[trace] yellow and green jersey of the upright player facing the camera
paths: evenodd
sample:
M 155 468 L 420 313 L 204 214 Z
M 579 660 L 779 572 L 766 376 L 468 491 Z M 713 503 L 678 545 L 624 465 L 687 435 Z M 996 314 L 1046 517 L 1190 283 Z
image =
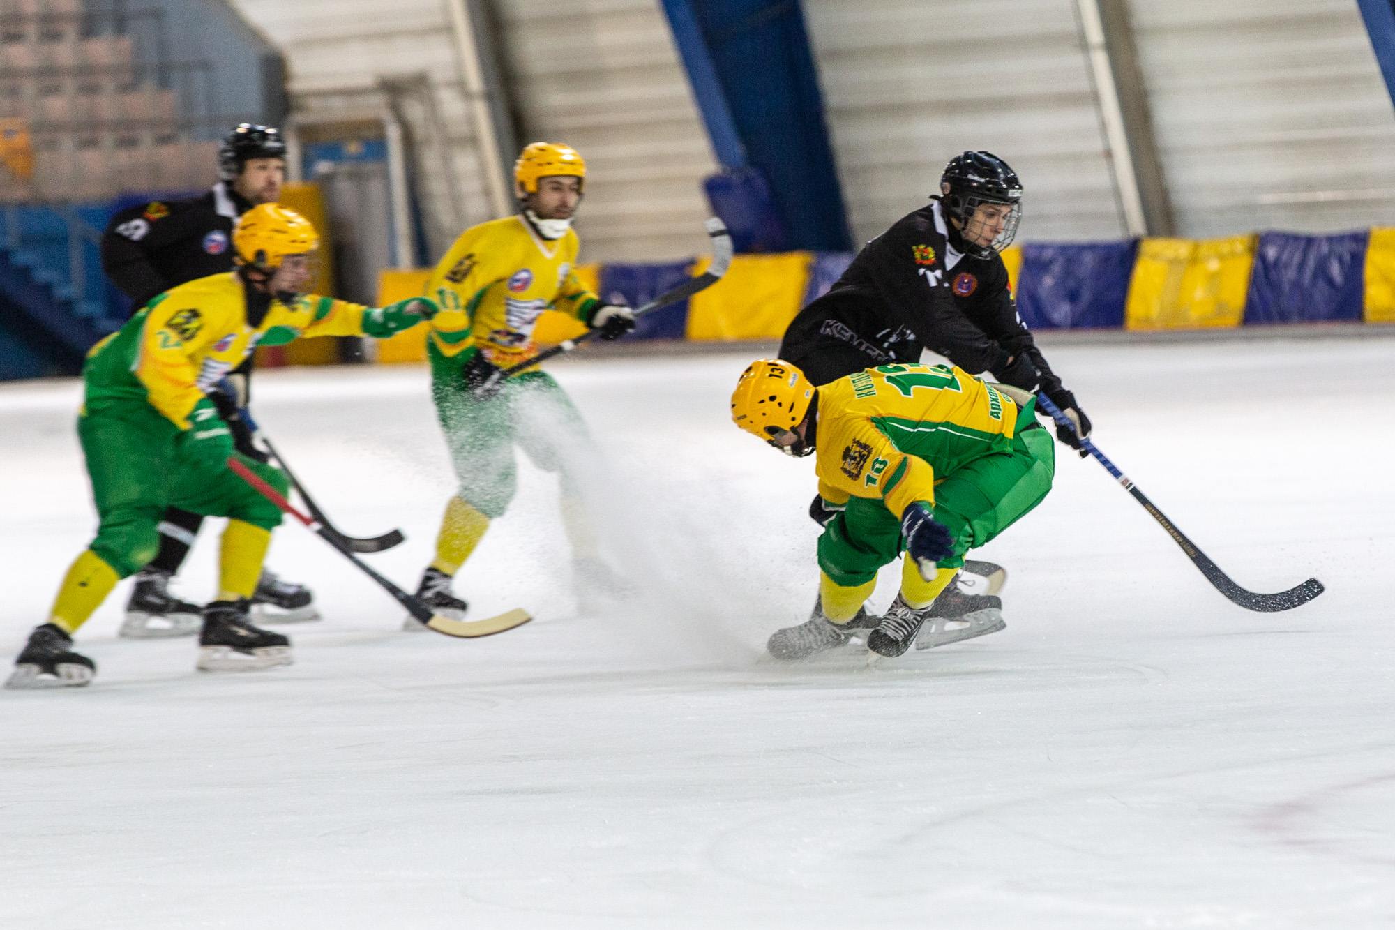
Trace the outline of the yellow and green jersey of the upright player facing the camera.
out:
M 472 346 L 501 369 L 531 359 L 544 310 L 589 323 L 600 300 L 572 272 L 579 249 L 576 232 L 548 242 L 520 215 L 460 233 L 427 282 L 441 304 L 427 339 L 432 369 L 456 371 L 448 360 L 459 362 Z

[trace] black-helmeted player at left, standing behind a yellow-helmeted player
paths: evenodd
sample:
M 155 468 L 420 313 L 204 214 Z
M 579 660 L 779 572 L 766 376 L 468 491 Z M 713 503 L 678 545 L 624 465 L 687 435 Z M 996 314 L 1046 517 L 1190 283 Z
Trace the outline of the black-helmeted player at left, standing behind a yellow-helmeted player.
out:
M 201 197 L 151 201 L 112 216 L 102 235 L 102 267 L 135 309 L 186 281 L 233 270 L 233 225 L 257 204 L 280 200 L 286 142 L 272 126 L 241 123 L 218 149 L 218 173 L 220 180 Z M 251 418 L 241 412 L 250 397 L 251 367 L 252 356 L 247 356 L 211 397 L 233 431 L 237 451 L 265 461 L 247 426 Z M 194 545 L 202 519 L 179 508 L 160 519 L 160 552 L 135 577 L 120 635 L 198 631 L 198 605 L 170 593 L 170 578 Z M 312 600 L 308 588 L 282 581 L 271 571 L 262 571 L 252 595 L 255 613 L 268 623 L 315 620 L 319 612 Z

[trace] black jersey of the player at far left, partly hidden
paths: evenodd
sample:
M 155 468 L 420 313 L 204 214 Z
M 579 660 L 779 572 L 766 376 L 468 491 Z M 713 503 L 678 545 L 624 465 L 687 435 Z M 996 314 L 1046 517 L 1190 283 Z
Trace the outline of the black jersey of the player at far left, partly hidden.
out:
M 102 233 L 102 268 L 133 302 L 186 281 L 233 270 L 233 225 L 251 204 L 226 183 L 202 197 L 120 211 Z

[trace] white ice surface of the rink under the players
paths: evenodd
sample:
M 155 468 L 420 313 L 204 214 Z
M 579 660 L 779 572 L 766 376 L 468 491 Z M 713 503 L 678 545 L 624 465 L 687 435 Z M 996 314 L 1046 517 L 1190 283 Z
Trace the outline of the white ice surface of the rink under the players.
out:
M 585 352 L 578 352 L 585 356 Z M 1375 927 L 1395 923 L 1395 335 L 1049 342 L 1095 438 L 1249 613 L 1092 461 L 979 554 L 1007 628 L 781 666 L 806 616 L 812 459 L 728 419 L 751 350 L 554 369 L 605 461 L 635 591 L 578 605 L 557 483 L 458 578 L 480 641 L 301 526 L 268 564 L 326 619 L 290 669 L 81 630 L 89 688 L 0 691 L 0 927 Z M 0 385 L 6 672 L 95 526 L 78 381 Z M 423 369 L 265 371 L 257 411 L 414 588 L 452 492 Z M 1057 447 L 1060 448 L 1060 447 Z M 205 529 L 177 591 L 212 596 Z M 894 593 L 886 574 L 873 600 Z

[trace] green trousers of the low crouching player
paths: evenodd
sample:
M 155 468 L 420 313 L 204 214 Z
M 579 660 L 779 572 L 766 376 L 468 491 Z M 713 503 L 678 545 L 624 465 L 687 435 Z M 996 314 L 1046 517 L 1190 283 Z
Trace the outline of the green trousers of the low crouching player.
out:
M 1035 420 L 1032 420 L 1035 422 Z M 954 539 L 940 568 L 958 568 L 976 549 L 1021 519 L 1050 490 L 1056 473 L 1052 434 L 1027 429 L 1007 452 L 976 458 L 935 487 L 935 519 Z M 819 536 L 819 568 L 844 586 L 865 585 L 901 554 L 901 521 L 880 500 L 852 497 Z

